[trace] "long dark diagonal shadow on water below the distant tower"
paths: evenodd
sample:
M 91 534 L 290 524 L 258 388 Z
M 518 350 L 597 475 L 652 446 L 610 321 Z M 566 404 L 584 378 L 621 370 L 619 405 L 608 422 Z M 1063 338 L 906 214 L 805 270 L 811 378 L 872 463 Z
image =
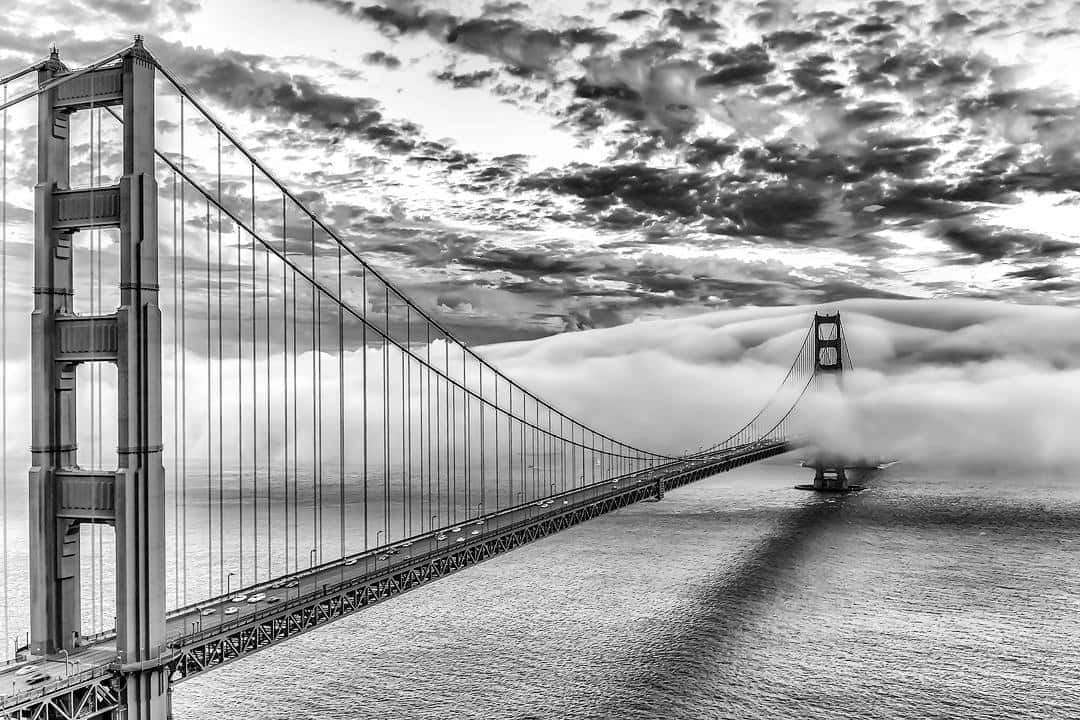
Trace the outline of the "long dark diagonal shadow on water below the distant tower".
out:
M 708 576 L 677 614 L 664 619 L 662 631 L 643 638 L 626 658 L 620 687 L 594 698 L 588 717 L 653 717 L 665 705 L 672 717 L 691 717 L 691 708 L 686 715 L 670 704 L 693 696 L 696 687 L 715 685 L 717 671 L 735 663 L 732 651 L 746 631 L 753 631 L 754 620 L 770 611 L 778 589 L 829 529 L 848 521 L 845 511 L 858 503 L 858 497 L 816 497 L 798 508 L 775 511 L 771 532 L 734 567 Z M 712 521 L 723 522 L 724 517 Z

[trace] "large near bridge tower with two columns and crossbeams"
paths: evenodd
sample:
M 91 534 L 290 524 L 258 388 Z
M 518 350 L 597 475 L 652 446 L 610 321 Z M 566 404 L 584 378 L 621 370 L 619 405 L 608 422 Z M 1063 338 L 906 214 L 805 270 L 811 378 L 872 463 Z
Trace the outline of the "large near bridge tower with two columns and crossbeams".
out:
M 39 83 L 68 73 L 54 50 Z M 80 646 L 79 531 L 116 531 L 116 668 L 124 717 L 164 720 L 165 494 L 161 460 L 161 312 L 154 178 L 154 66 L 141 40 L 106 65 L 39 96 L 31 316 L 30 652 Z M 123 172 L 107 187 L 71 189 L 73 113 L 121 108 Z M 87 316 L 73 310 L 72 236 L 118 228 L 120 305 Z M 76 367 L 117 366 L 117 470 L 79 466 Z

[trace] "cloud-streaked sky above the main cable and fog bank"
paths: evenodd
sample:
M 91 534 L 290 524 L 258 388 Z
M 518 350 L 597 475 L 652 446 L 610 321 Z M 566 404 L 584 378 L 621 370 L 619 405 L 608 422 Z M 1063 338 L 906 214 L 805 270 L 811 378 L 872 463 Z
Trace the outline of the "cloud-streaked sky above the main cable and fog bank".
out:
M 1072 304 L 1066 2 L 42 0 L 151 50 L 467 340 L 850 297 Z

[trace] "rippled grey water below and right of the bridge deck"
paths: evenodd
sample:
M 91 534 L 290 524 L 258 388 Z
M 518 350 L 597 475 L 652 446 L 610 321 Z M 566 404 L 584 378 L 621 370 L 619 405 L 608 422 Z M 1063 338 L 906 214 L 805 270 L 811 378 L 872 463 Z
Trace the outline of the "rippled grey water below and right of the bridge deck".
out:
M 211 718 L 1080 718 L 1080 479 L 717 475 L 176 688 Z

